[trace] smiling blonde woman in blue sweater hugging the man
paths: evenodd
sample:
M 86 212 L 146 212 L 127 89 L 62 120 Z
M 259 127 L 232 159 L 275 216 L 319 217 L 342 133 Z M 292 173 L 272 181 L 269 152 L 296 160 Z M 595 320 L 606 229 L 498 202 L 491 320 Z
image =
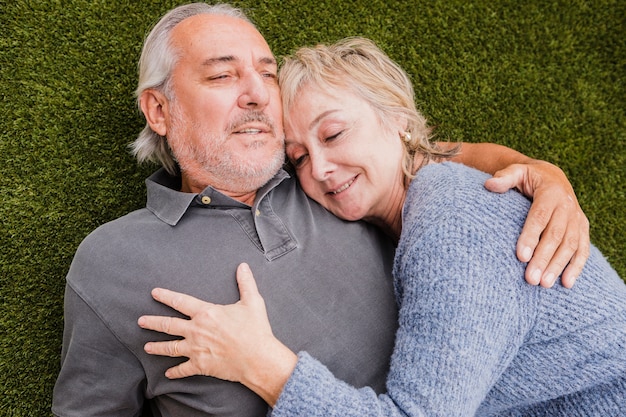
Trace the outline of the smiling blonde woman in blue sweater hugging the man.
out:
M 155 290 L 193 317 L 143 317 L 184 336 L 149 353 L 187 356 L 168 376 L 239 381 L 274 416 L 620 415 L 626 407 L 626 286 L 600 252 L 574 288 L 524 282 L 515 242 L 529 208 L 430 142 L 401 68 L 351 38 L 284 64 L 286 151 L 305 192 L 335 215 L 398 242 L 399 330 L 377 396 L 273 336 L 246 265 L 241 301 L 216 306 Z M 355 347 L 358 349 L 358 346 Z

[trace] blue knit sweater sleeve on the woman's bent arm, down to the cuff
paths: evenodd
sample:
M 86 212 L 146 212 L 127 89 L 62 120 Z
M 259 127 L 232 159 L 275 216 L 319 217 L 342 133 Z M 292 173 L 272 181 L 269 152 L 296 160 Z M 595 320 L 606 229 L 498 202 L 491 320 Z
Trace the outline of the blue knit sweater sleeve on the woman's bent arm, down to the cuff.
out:
M 513 215 L 504 198 L 505 207 L 483 209 L 449 184 L 433 195 L 432 206 L 411 207 L 418 215 L 407 216 L 396 253 L 400 327 L 387 394 L 350 387 L 301 353 L 274 417 L 476 413 L 532 326 L 514 249 L 526 208 Z

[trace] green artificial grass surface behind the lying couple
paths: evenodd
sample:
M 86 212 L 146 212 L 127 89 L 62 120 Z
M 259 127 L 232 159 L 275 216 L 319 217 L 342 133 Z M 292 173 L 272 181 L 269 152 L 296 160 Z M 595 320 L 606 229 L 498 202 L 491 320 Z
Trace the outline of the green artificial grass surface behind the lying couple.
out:
M 144 204 L 142 39 L 176 1 L 0 0 L 0 415 L 50 415 L 79 242 Z M 348 35 L 414 80 L 438 138 L 561 166 L 626 277 L 626 2 L 237 1 L 277 56 Z M 86 387 L 88 388 L 88 387 Z

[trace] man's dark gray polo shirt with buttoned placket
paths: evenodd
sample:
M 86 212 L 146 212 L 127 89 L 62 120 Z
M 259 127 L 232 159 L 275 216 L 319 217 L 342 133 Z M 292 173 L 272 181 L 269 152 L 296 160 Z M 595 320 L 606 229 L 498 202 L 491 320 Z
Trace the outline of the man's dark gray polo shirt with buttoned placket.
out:
M 250 264 L 275 335 L 339 378 L 384 391 L 397 328 L 393 248 L 376 229 L 337 219 L 280 171 L 252 207 L 211 187 L 182 193 L 157 171 L 145 209 L 92 232 L 67 276 L 59 416 L 264 416 L 240 384 L 209 377 L 168 380 L 181 358 L 143 345 L 171 338 L 140 329 L 143 314 L 173 315 L 150 297 L 160 286 L 213 303 L 239 299 L 235 269 Z

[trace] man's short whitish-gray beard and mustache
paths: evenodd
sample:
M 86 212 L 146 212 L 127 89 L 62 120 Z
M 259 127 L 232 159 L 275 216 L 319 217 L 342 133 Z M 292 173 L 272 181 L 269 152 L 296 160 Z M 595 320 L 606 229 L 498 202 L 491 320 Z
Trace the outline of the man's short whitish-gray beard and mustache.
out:
M 265 161 L 249 161 L 242 155 L 229 150 L 225 144 L 231 132 L 244 123 L 261 122 L 271 128 L 276 135 L 274 124 L 261 112 L 248 112 L 229 124 L 223 134 L 204 133 L 196 123 L 189 123 L 180 117 L 178 109 L 172 111 L 172 127 L 170 137 L 178 141 L 177 149 L 173 149 L 181 171 L 201 181 L 201 177 L 211 178 L 210 184 L 218 190 L 234 193 L 256 191 L 274 177 L 284 163 L 284 146 L 277 146 L 270 158 Z M 188 133 L 195 132 L 198 142 L 189 143 Z M 199 147 L 202 146 L 202 149 Z M 250 147 L 254 148 L 255 143 Z M 258 146 L 262 146 L 260 143 Z M 267 145 L 263 145 L 267 146 Z

